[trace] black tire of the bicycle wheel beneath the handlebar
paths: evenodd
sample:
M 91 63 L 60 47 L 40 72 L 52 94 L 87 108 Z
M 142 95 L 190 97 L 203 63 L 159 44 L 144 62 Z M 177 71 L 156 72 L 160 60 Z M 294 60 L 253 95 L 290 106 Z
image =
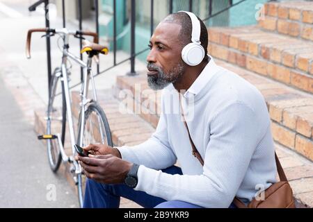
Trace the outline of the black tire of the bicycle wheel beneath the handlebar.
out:
M 59 72 L 60 69 L 56 68 L 54 69 L 54 74 L 52 75 L 51 78 L 51 87 L 50 90 L 52 89 L 52 84 L 54 82 L 54 78 L 59 78 L 56 77 L 56 73 Z M 61 118 L 62 118 L 62 123 L 61 123 L 61 142 L 62 145 L 64 145 L 65 141 L 65 129 L 66 129 L 66 101 L 65 101 L 65 93 L 64 93 L 64 85 L 61 84 L 61 91 L 62 91 L 62 108 L 61 108 Z M 51 93 L 49 96 L 49 103 L 51 101 Z M 51 103 L 52 108 L 54 104 Z M 57 110 L 49 109 L 47 110 L 47 135 L 52 134 L 53 130 L 51 129 L 51 123 L 53 119 L 51 119 L 51 112 L 57 112 Z M 53 127 L 52 127 L 53 128 Z M 61 156 L 61 151 L 60 147 L 58 146 L 58 142 L 56 139 L 47 139 L 47 153 L 48 153 L 48 160 L 49 160 L 49 166 L 51 168 L 51 171 L 54 173 L 58 171 L 61 161 L 62 161 L 62 156 Z

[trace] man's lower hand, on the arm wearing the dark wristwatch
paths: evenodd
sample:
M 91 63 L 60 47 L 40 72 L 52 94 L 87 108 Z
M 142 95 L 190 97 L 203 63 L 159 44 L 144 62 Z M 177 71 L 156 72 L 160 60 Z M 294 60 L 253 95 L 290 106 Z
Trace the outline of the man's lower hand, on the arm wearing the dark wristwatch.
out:
M 118 184 L 124 182 L 132 163 L 113 155 L 77 156 L 85 175 L 97 182 Z

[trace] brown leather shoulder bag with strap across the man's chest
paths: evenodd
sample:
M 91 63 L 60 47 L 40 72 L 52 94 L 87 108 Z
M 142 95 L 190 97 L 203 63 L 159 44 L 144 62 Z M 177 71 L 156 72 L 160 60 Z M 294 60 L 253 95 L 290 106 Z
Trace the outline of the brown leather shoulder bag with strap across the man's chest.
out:
M 179 104 L 180 96 L 179 96 Z M 199 160 L 200 164 L 204 164 L 204 161 L 198 152 L 197 148 L 195 148 L 195 144 L 193 144 L 193 140 L 191 139 L 191 135 L 189 133 L 189 129 L 186 123 L 186 119 L 184 117 L 184 112 L 182 110 L 182 105 L 180 105 L 182 111 L 182 118 L 184 121 L 184 125 L 188 131 L 188 137 L 192 147 L 193 155 Z M 278 160 L 278 156 L 275 153 L 275 161 L 276 167 L 278 169 L 278 175 L 280 176 L 280 182 L 276 182 L 271 187 L 268 187 L 264 191 L 263 200 L 257 200 L 253 198 L 252 201 L 246 206 L 239 198 L 234 198 L 233 203 L 238 208 L 296 208 L 294 195 L 292 193 L 292 189 L 289 185 L 286 175 L 284 174 L 284 170 L 282 169 L 282 165 L 280 164 L 280 160 Z M 259 198 L 258 198 L 259 199 Z

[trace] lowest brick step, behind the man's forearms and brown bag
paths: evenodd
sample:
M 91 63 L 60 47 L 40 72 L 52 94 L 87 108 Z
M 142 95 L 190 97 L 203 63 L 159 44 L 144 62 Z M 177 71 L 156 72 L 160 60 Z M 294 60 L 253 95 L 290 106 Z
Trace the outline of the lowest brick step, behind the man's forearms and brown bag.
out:
M 138 77 L 134 77 L 138 80 Z M 141 77 L 141 79 L 143 79 Z M 115 91 L 116 92 L 116 91 Z M 140 144 L 147 139 L 148 135 L 154 132 L 154 128 L 146 123 L 141 117 L 127 110 L 123 103 L 118 102 L 109 96 L 111 92 L 99 92 L 99 102 L 104 108 L 104 112 L 110 123 L 111 133 L 113 135 L 114 144 L 129 146 Z M 72 93 L 73 104 L 77 104 L 79 99 L 78 93 Z M 124 98 L 125 99 L 125 98 Z M 77 110 L 74 108 L 73 110 Z M 43 132 L 45 129 L 45 121 L 43 119 L 45 112 L 37 110 L 35 112 L 35 130 L 37 133 Z M 77 113 L 74 113 L 77 116 Z M 146 135 L 146 136 L 138 136 Z M 140 139 L 138 139 L 140 138 Z M 286 171 L 287 177 L 290 180 L 291 187 L 294 189 L 294 196 L 298 200 L 300 207 L 313 207 L 313 166 L 312 163 L 305 158 L 294 154 L 287 148 L 275 144 L 278 157 L 282 163 L 282 167 Z M 64 165 L 64 164 L 63 164 Z M 67 180 L 72 181 L 68 167 L 61 167 L 60 171 L 64 174 Z M 74 188 L 74 183 L 71 184 Z M 125 198 L 121 199 L 120 207 L 141 207 Z

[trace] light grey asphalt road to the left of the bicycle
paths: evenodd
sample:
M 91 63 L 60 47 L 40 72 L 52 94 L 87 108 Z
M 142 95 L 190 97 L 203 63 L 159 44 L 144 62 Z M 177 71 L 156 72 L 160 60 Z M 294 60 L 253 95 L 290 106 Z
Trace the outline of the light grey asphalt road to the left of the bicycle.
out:
M 0 75 L 0 207 L 78 207 L 63 176 L 49 169 L 45 146 Z

